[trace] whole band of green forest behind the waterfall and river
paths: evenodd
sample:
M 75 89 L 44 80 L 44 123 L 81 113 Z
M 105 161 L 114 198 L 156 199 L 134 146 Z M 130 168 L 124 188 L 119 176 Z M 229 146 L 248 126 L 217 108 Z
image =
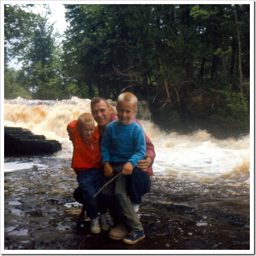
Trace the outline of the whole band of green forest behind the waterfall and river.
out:
M 32 7 L 4 5 L 5 99 L 131 91 L 162 127 L 249 127 L 249 4 L 65 5 L 63 36 Z

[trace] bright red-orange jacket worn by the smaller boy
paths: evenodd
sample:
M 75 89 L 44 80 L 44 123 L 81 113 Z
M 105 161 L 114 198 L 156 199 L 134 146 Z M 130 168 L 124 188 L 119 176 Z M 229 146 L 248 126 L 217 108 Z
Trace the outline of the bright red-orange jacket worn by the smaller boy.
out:
M 84 140 L 77 130 L 77 120 L 68 124 L 67 131 L 69 139 L 73 143 L 71 167 L 74 168 L 75 172 L 102 168 L 98 127 L 95 127 L 94 136 L 90 141 Z

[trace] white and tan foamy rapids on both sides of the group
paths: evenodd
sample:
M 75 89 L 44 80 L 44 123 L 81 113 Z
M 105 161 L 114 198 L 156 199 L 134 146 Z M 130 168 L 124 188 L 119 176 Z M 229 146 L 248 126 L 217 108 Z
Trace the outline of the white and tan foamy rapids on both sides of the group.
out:
M 58 140 L 62 151 L 56 156 L 71 159 L 73 146 L 66 127 L 82 112 L 91 112 L 90 100 L 76 97 L 62 101 L 5 100 L 5 125 L 24 127 L 34 134 Z M 249 183 L 249 135 L 218 140 L 206 131 L 192 135 L 166 134 L 151 121 L 140 120 L 140 123 L 155 146 L 155 175 L 199 182 L 212 179 L 235 182 L 237 177 L 239 182 Z M 27 168 L 27 164 L 8 164 L 7 172 Z

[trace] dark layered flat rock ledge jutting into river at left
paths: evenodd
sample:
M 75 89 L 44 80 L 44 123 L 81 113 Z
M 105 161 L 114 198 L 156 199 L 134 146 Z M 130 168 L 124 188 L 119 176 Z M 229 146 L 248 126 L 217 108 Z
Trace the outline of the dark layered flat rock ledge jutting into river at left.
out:
M 48 140 L 44 135 L 34 135 L 21 127 L 5 126 L 5 157 L 39 156 L 61 150 L 61 143 Z

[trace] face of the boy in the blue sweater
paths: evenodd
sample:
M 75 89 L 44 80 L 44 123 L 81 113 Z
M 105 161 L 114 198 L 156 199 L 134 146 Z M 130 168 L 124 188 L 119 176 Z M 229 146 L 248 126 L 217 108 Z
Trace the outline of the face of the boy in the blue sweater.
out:
M 130 124 L 132 123 L 132 117 L 136 113 L 136 105 L 129 102 L 119 102 L 117 104 L 117 117 L 120 123 Z

